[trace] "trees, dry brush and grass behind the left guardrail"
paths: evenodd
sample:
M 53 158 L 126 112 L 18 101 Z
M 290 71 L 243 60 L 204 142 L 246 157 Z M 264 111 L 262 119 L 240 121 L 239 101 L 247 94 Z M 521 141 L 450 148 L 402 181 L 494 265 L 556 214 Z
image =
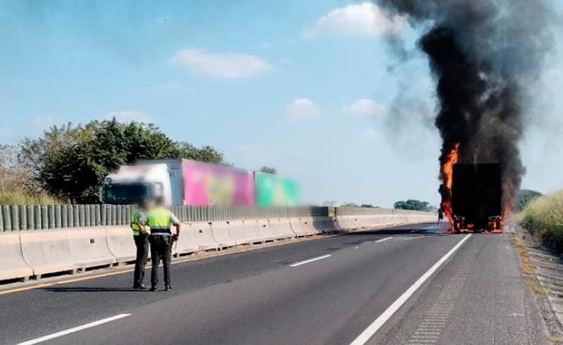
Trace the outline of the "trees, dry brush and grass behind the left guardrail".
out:
M 108 173 L 139 159 L 160 158 L 224 164 L 212 146 L 175 142 L 152 124 L 69 123 L 19 144 L 0 144 L 0 204 L 98 203 Z

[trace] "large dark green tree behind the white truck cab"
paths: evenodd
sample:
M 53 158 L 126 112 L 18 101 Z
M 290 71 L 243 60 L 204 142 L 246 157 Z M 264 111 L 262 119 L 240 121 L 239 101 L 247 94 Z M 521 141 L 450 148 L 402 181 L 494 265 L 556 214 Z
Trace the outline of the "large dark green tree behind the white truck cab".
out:
M 74 203 L 95 203 L 103 177 L 138 159 L 189 158 L 221 163 L 222 153 L 173 142 L 158 127 L 117 120 L 52 127 L 38 139 L 26 139 L 23 161 L 49 194 Z

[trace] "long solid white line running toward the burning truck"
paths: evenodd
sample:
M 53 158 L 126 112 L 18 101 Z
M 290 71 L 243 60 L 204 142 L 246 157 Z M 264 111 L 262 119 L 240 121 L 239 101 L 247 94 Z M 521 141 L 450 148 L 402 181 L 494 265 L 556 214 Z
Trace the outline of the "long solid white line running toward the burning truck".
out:
M 379 330 L 379 328 L 381 328 L 381 326 L 383 326 L 385 322 L 387 322 L 387 320 L 389 320 L 389 318 L 391 318 L 391 316 L 393 316 L 393 314 L 396 311 L 398 311 L 400 306 L 403 306 L 403 304 L 410 298 L 410 296 L 412 296 L 412 294 L 414 294 L 415 291 L 417 291 L 417 289 L 419 289 L 419 287 L 421 287 L 421 285 L 424 284 L 424 282 L 426 282 L 426 280 L 428 280 L 428 278 L 434 272 L 436 272 L 436 270 L 438 270 L 438 268 L 440 268 L 440 266 L 446 260 L 448 260 L 448 258 L 450 258 L 450 256 L 452 256 L 453 253 L 455 253 L 455 251 L 457 251 L 457 249 L 459 249 L 460 246 L 462 246 L 462 244 L 464 244 L 465 241 L 467 241 L 467 239 L 469 239 L 469 237 L 471 237 L 471 234 L 467 234 L 467 236 L 463 237 L 463 239 L 460 242 L 457 242 L 457 244 L 452 249 L 450 249 L 448 253 L 445 253 L 445 256 L 442 256 L 442 258 L 440 258 L 440 260 L 438 260 L 434 264 L 434 266 L 432 266 L 429 270 L 427 270 L 426 273 L 422 275 L 422 277 L 419 277 L 419 279 L 414 284 L 412 284 L 407 289 L 407 291 L 403 292 L 403 294 L 400 295 L 399 298 L 396 301 L 394 301 L 393 304 L 391 304 L 391 306 L 389 306 L 383 312 L 383 314 L 379 315 L 379 317 L 375 319 L 374 322 L 372 322 L 372 324 L 369 325 L 364 330 L 364 332 L 362 332 L 362 334 L 358 336 L 358 338 L 354 339 L 354 341 L 352 341 L 350 345 L 363 345 L 371 337 L 373 337 L 375 332 L 377 332 L 377 330 Z

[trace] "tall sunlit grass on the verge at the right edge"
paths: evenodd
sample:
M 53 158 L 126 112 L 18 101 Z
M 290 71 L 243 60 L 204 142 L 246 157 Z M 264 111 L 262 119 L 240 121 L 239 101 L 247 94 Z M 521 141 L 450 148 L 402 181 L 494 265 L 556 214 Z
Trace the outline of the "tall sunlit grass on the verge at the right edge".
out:
M 534 237 L 563 253 L 563 190 L 531 201 L 520 220 Z

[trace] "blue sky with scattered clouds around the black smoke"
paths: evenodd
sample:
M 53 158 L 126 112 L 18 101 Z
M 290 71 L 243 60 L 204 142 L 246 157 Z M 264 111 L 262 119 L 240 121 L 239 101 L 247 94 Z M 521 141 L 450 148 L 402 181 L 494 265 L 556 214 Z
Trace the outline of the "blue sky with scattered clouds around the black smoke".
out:
M 388 31 L 410 48 L 417 36 L 358 1 L 0 1 L 0 142 L 116 116 L 274 166 L 303 201 L 437 204 L 432 81 L 420 55 L 388 70 Z M 555 49 L 522 143 L 524 187 L 541 192 L 563 186 L 561 60 Z M 393 125 L 399 89 L 418 106 Z

